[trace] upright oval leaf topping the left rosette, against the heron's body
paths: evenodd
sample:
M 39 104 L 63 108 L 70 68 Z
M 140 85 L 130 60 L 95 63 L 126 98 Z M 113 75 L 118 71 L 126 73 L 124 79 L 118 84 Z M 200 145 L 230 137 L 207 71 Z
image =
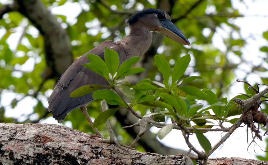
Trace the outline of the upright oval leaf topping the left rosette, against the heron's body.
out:
M 114 76 L 119 66 L 119 58 L 117 52 L 105 47 L 104 60 L 108 71 L 111 73 L 112 76 Z

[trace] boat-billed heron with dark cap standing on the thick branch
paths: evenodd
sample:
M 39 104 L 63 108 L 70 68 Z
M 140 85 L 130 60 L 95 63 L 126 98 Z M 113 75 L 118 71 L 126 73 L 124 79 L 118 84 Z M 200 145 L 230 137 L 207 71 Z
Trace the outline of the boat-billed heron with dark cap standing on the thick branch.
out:
M 128 20 L 130 33 L 127 36 L 117 42 L 104 41 L 78 57 L 64 72 L 49 98 L 49 112 L 52 112 L 53 117 L 59 123 L 64 120 L 67 113 L 75 108 L 80 107 L 82 112 L 83 110 L 86 112 L 86 105 L 94 100 L 92 93 L 79 97 L 70 97 L 70 93 L 84 85 L 109 85 L 100 75 L 82 66 L 82 64 L 90 63 L 87 59 L 87 54 L 98 55 L 104 60 L 104 50 L 107 47 L 118 53 L 120 64 L 133 56 L 141 57 L 151 45 L 151 31 L 165 34 L 177 43 L 190 45 L 181 30 L 171 23 L 170 20 L 168 13 L 158 9 L 145 9 L 133 14 Z M 92 121 L 89 122 L 93 128 Z

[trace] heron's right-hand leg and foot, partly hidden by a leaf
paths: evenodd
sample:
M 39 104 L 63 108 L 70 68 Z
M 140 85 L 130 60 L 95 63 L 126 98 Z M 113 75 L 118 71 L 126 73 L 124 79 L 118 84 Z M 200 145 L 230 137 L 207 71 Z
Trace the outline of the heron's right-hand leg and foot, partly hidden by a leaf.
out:
M 104 112 L 106 111 L 106 101 L 102 101 L 102 106 L 101 106 L 101 112 Z M 114 142 L 119 148 L 123 149 L 123 150 L 127 150 L 129 148 L 129 146 L 123 144 L 123 143 L 120 143 L 119 141 L 117 141 L 114 137 L 114 133 L 113 133 L 113 130 L 111 128 L 111 125 L 110 125 L 110 122 L 109 120 L 106 120 L 105 121 L 105 124 L 107 126 L 107 129 L 108 129 L 108 133 L 109 133 L 109 136 L 110 136 L 110 140 L 102 140 L 103 142 Z M 131 149 L 135 149 L 135 148 L 132 148 Z

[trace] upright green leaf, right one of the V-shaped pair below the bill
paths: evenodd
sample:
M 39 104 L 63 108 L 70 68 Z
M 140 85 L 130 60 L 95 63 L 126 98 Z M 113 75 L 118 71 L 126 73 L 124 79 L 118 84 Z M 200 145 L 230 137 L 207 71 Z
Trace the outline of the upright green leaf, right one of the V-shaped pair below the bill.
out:
M 172 83 L 176 82 L 184 74 L 191 60 L 190 55 L 185 55 L 178 59 L 172 70 Z

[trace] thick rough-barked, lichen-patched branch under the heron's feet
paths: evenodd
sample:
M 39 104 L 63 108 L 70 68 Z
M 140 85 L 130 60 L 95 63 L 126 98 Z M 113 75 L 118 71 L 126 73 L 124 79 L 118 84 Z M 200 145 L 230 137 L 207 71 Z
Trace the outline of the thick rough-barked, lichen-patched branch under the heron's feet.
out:
M 0 164 L 114 164 L 123 150 L 66 126 L 0 123 Z M 129 150 L 117 164 L 184 164 L 185 155 L 159 155 Z M 203 164 L 197 160 L 198 164 Z M 268 165 L 268 161 L 214 158 L 207 164 Z

